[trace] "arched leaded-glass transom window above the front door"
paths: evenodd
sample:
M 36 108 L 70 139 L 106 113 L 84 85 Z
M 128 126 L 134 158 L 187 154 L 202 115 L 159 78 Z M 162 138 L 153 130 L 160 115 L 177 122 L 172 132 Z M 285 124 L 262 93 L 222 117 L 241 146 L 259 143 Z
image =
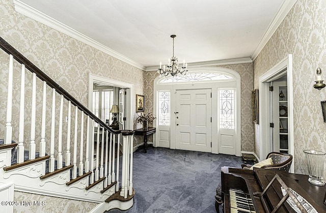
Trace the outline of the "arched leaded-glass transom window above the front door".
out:
M 182 76 L 170 76 L 162 78 L 158 83 L 177 83 L 177 82 L 192 82 L 192 81 L 214 81 L 214 80 L 232 80 L 232 76 L 224 73 L 213 72 L 188 72 Z

